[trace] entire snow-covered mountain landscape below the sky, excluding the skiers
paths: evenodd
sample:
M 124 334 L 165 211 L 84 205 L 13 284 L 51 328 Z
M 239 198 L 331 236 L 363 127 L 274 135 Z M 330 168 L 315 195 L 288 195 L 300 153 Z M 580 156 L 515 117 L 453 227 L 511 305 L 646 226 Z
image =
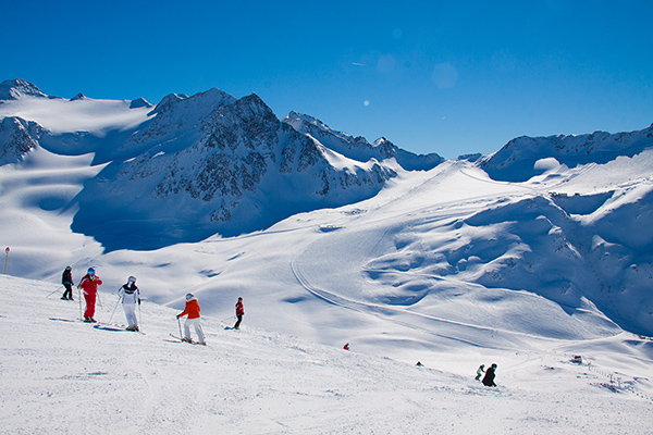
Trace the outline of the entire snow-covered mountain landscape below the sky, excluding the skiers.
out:
M 227 112 L 220 104 L 235 99 L 217 90 L 169 96 L 187 109 L 165 109 L 172 121 L 161 116 L 156 129 L 161 112 L 152 119 L 144 103 L 35 95 L 0 103 L 0 115 L 26 116 L 0 124 L 0 243 L 11 247 L 0 296 L 2 431 L 651 433 L 653 126 L 520 138 L 491 157 L 440 161 L 310 116 L 280 124 L 262 102 L 243 100 Z M 84 104 L 95 112 L 57 124 Z M 232 178 L 222 186 L 238 189 L 215 197 L 249 206 L 232 204 L 229 236 L 195 239 L 210 228 L 195 217 L 213 202 L 194 198 L 194 183 L 222 170 L 202 178 L 207 166 L 194 159 L 215 159 L 207 154 L 221 149 L 215 125 L 230 116 L 242 134 L 225 150 L 268 147 L 249 139 L 260 133 L 243 116 L 251 108 L 268 116 L 266 137 L 273 132 L 285 149 L 304 144 L 296 150 L 311 157 L 287 162 L 315 164 L 286 173 L 291 151 L 269 148 L 256 184 L 246 174 L 258 166 L 234 151 L 241 169 L 224 169 Z M 212 139 L 201 142 L 187 116 L 204 120 Z M 406 169 L 418 165 L 427 166 Z M 329 194 L 316 195 L 324 174 Z M 149 190 L 163 179 L 190 181 L 189 189 L 161 202 Z M 230 233 L 248 212 L 269 225 Z M 96 232 L 115 238 L 110 249 Z M 163 246 L 143 249 L 152 243 Z M 111 324 L 77 322 L 79 307 L 59 299 L 66 265 L 75 284 L 96 269 L 96 318 Z M 120 331 L 120 308 L 112 316 L 130 275 L 146 335 Z M 201 306 L 206 348 L 169 336 L 186 293 Z M 227 331 L 239 296 L 244 328 Z M 485 388 L 475 372 L 493 362 L 498 387 Z

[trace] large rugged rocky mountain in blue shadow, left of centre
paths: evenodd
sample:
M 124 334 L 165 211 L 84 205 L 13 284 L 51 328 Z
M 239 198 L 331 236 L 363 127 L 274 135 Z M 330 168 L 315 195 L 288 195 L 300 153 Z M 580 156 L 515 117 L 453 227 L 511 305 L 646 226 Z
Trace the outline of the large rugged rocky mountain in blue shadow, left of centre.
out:
M 108 249 L 237 235 L 375 195 L 392 166 L 356 161 L 282 123 L 256 95 L 170 95 L 79 194 L 73 229 Z M 394 147 L 394 146 L 393 146 Z M 98 198 L 112 198 L 100 209 Z M 137 237 L 130 237 L 134 228 Z

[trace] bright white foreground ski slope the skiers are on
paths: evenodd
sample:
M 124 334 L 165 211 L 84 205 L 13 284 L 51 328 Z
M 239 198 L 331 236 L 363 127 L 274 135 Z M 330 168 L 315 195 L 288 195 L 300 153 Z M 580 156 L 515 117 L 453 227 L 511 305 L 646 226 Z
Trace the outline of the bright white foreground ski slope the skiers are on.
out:
M 589 365 L 552 343 L 542 351 L 459 356 L 421 366 L 204 319 L 207 347 L 178 343 L 178 312 L 145 301 L 146 335 L 75 321 L 57 285 L 0 277 L 0 425 L 12 434 L 645 434 L 652 397 L 641 378 L 615 374 L 606 349 L 638 372 L 651 341 L 623 334 L 584 344 Z M 111 319 L 107 286 L 98 320 Z M 147 295 L 146 295 L 147 296 Z M 201 301 L 200 301 L 201 303 Z M 229 319 L 230 324 L 232 319 Z M 463 350 L 461 346 L 458 350 Z M 489 356 L 488 356 L 489 357 Z M 496 388 L 473 381 L 498 361 Z M 616 360 L 615 360 L 616 362 Z M 611 384 L 609 375 L 613 375 Z

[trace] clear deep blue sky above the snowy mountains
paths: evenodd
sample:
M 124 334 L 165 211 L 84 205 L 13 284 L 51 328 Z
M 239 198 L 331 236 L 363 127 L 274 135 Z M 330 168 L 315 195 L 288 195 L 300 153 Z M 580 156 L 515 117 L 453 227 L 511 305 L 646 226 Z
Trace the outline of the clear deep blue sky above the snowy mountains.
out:
M 653 123 L 652 0 L 29 1 L 2 5 L 0 79 L 157 103 L 258 94 L 445 158 Z

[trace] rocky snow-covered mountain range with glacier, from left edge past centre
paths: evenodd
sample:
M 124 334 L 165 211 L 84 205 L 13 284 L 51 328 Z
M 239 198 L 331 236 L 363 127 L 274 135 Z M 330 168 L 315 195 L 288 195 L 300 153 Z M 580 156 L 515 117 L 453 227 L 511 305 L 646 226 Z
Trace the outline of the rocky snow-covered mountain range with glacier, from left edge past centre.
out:
M 1 89 L 0 162 L 20 163 L 38 145 L 109 163 L 67 206 L 76 209 L 73 229 L 107 250 L 263 229 L 298 212 L 370 198 L 401 164 L 431 169 L 442 161 L 381 139 L 342 154 L 279 121 L 256 95 L 171 94 L 151 109 L 143 99 L 50 98 L 20 79 Z M 335 137 L 330 132 L 325 138 Z

